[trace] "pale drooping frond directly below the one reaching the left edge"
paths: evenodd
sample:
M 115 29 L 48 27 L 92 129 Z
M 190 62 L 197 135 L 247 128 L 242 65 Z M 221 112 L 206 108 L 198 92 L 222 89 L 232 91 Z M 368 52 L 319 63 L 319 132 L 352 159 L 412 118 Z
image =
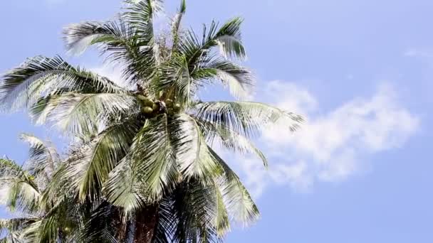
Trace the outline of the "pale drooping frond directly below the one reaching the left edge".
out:
M 56 124 L 66 134 L 89 136 L 97 134 L 110 122 L 138 112 L 140 106 L 132 95 L 68 93 L 51 97 L 36 117 L 38 123 Z

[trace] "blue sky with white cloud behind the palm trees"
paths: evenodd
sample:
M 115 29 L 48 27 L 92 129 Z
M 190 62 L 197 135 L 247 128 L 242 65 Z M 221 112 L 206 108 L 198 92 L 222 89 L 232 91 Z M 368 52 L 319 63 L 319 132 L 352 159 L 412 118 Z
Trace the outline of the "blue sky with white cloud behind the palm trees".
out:
M 173 13 L 177 1 L 166 5 Z M 63 26 L 109 18 L 119 6 L 0 1 L 0 72 L 64 54 Z M 267 172 L 255 158 L 226 155 L 262 214 L 227 242 L 433 242 L 432 8 L 429 0 L 188 1 L 192 26 L 243 16 L 254 99 L 308 119 L 294 135 L 264 131 Z M 70 60 L 115 75 L 95 55 Z M 24 114 L 1 115 L 0 124 L 0 154 L 17 161 L 26 158 L 22 131 L 58 141 Z

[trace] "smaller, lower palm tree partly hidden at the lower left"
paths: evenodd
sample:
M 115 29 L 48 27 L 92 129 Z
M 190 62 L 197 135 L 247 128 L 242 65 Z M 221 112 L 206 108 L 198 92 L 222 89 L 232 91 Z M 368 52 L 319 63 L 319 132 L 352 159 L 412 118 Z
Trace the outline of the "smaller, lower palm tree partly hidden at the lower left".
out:
M 20 138 L 30 145 L 28 161 L 21 166 L 0 159 L 1 204 L 12 216 L 0 220 L 0 242 L 124 242 L 130 238 L 118 235 L 122 232 L 119 208 L 105 200 L 80 201 L 68 190 L 53 193 L 53 175 L 65 161 L 48 141 L 30 134 Z

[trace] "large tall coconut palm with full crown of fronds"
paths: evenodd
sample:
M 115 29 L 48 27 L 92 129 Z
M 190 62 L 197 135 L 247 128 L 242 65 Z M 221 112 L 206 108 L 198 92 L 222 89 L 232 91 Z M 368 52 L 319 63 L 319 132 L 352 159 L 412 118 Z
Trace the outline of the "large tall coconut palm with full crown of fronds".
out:
M 230 222 L 254 222 L 256 205 L 214 148 L 255 154 L 267 166 L 249 139 L 276 121 L 293 131 L 302 121 L 244 101 L 254 77 L 239 64 L 246 58 L 241 18 L 212 21 L 197 35 L 182 28 L 182 0 L 171 29 L 157 33 L 161 10 L 160 0 L 125 1 L 113 20 L 65 28 L 68 52 L 95 45 L 122 69 L 122 85 L 58 56 L 30 58 L 0 85 L 5 111 L 28 109 L 36 124 L 55 124 L 71 136 L 45 198 L 63 194 L 96 205 L 80 226 L 87 242 L 212 242 Z M 214 84 L 228 87 L 236 101 L 200 100 L 197 92 Z

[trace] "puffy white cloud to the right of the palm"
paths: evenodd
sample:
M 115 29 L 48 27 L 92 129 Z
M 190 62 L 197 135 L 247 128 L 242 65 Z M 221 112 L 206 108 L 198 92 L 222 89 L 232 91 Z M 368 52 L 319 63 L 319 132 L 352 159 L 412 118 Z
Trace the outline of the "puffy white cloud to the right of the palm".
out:
M 264 90 L 268 102 L 279 97 L 282 100 L 274 102 L 278 107 L 304 114 L 308 121 L 295 134 L 281 126 L 264 131 L 260 141 L 270 157 L 268 173 L 259 161 L 241 163 L 245 182 L 256 196 L 270 183 L 308 191 L 318 181 L 345 180 L 362 171 L 368 156 L 399 148 L 419 128 L 419 118 L 399 104 L 390 85 L 327 114 L 319 114 L 311 92 L 293 83 L 273 81 Z

